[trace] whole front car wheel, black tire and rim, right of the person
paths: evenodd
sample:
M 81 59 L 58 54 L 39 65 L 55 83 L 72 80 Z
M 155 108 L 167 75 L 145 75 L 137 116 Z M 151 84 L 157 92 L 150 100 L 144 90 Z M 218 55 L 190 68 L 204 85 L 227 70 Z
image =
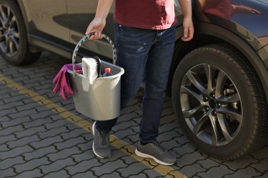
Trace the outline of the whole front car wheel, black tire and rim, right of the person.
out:
M 251 64 L 228 44 L 201 47 L 181 60 L 172 104 L 186 136 L 212 157 L 234 160 L 267 141 L 263 86 Z

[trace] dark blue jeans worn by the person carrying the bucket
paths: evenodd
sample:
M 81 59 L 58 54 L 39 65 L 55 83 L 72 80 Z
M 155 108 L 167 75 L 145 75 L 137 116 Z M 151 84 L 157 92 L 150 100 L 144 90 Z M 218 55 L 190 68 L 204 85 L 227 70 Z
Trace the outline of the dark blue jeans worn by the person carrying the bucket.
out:
M 175 45 L 175 27 L 165 30 L 138 29 L 115 23 L 115 47 L 121 76 L 121 110 L 135 97 L 142 79 L 145 92 L 139 140 L 155 142 L 166 96 L 166 84 Z M 97 121 L 100 131 L 111 131 L 117 118 Z

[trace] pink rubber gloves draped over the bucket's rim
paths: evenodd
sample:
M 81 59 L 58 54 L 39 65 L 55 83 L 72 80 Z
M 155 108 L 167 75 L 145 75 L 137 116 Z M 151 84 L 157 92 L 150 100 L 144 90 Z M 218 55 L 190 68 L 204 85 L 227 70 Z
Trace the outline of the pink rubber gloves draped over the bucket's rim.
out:
M 62 97 L 64 100 L 66 100 L 65 94 L 67 94 L 67 96 L 74 94 L 74 90 L 71 89 L 69 78 L 66 73 L 68 70 L 72 70 L 72 69 L 73 69 L 73 64 L 65 64 L 60 69 L 60 71 L 58 72 L 58 74 L 53 80 L 53 84 L 56 83 L 56 86 L 54 87 L 52 91 L 56 94 L 58 90 L 60 90 L 60 97 Z M 76 69 L 81 70 L 82 67 L 76 65 Z

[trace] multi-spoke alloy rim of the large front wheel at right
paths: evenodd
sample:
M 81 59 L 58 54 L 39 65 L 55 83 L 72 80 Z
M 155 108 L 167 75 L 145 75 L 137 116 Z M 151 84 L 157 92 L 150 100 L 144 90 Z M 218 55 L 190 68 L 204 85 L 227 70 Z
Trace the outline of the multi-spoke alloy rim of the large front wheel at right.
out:
M 197 138 L 212 146 L 229 144 L 243 123 L 240 94 L 227 73 L 210 64 L 192 67 L 180 91 L 183 119 Z

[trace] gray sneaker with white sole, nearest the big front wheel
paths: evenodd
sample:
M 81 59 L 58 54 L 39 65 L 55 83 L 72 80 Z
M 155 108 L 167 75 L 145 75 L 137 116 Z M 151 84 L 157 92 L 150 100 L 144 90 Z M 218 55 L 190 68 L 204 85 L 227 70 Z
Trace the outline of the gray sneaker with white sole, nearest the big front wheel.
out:
M 159 143 L 148 143 L 142 145 L 140 142 L 137 142 L 135 153 L 139 157 L 152 158 L 159 164 L 172 165 L 176 162 L 176 157 L 161 147 Z

